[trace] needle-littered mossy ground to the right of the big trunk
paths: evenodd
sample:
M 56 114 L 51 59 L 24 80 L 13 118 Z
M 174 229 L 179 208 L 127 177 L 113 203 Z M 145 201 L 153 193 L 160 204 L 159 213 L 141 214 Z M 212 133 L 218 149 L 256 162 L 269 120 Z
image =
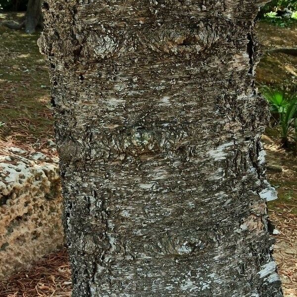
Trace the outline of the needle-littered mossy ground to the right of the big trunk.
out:
M 273 48 L 297 48 L 297 25 L 280 28 L 259 23 L 256 36 L 263 54 L 256 70 L 257 85 L 297 91 L 297 57 L 269 53 Z M 279 132 L 268 127 L 263 136 L 268 164 L 267 178 L 278 192 L 278 199 L 268 203 L 270 220 L 276 235 L 274 257 L 283 282 L 285 297 L 297 297 L 297 158 L 294 151 L 280 148 Z

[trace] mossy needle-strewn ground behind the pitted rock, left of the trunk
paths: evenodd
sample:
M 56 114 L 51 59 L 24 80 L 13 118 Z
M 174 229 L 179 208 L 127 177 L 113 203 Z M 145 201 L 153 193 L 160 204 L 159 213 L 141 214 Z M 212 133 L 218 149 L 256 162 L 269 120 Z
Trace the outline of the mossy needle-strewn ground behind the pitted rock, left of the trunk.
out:
M 4 20 L 0 14 L 0 23 Z M 37 38 L 0 25 L 0 150 L 14 145 L 50 151 L 49 75 Z

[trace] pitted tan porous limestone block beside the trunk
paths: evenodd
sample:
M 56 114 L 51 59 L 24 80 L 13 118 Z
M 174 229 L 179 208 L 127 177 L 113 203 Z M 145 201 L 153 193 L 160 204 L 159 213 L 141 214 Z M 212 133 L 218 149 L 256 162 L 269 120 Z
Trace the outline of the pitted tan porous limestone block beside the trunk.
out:
M 0 279 L 64 240 L 58 160 L 24 154 L 7 148 L 0 156 Z

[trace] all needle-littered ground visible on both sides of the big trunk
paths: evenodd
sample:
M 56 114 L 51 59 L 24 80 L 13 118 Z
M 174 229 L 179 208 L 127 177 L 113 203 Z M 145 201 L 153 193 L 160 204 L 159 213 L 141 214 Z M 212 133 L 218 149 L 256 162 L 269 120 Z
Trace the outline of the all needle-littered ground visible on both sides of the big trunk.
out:
M 7 15 L 0 14 L 0 22 L 6 19 Z M 279 28 L 260 23 L 256 33 L 264 50 L 297 47 L 297 26 Z M 18 145 L 49 153 L 47 142 L 53 139 L 49 78 L 37 38 L 38 34 L 28 36 L 0 25 L 0 150 Z M 263 55 L 257 68 L 258 86 L 292 88 L 296 83 L 297 57 Z M 274 256 L 285 297 L 297 297 L 296 154 L 280 148 L 276 128 L 266 129 L 263 142 L 267 176 L 279 193 L 279 199 L 268 204 L 270 219 L 279 231 Z M 71 294 L 70 274 L 67 251 L 57 251 L 0 282 L 0 297 L 67 297 Z

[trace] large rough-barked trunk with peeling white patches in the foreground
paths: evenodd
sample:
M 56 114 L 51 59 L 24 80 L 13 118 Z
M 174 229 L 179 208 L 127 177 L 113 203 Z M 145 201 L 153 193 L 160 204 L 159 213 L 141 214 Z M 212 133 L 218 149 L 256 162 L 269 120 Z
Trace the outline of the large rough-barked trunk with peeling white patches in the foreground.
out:
M 73 297 L 283 296 L 253 78 L 264 2 L 44 4 Z

